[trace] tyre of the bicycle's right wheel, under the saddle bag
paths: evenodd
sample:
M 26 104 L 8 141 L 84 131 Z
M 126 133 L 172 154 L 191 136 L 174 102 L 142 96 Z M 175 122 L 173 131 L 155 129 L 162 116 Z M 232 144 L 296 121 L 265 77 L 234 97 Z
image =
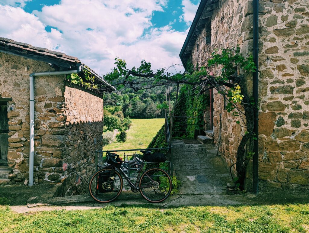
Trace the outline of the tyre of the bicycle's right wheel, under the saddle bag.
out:
M 160 194 L 160 196 L 163 196 L 162 198 L 158 199 L 158 200 L 154 200 L 154 199 L 151 199 L 150 198 L 150 194 L 146 193 L 146 189 L 147 188 L 143 188 L 142 187 L 142 182 L 147 182 L 149 179 L 149 177 L 146 175 L 148 174 L 150 177 L 151 176 L 157 176 L 157 177 L 160 177 L 161 175 L 155 175 L 155 174 L 158 174 L 158 172 L 162 172 L 166 178 L 168 179 L 168 184 L 169 184 L 169 188 L 168 188 L 168 191 L 166 192 L 166 194 L 163 194 L 164 192 L 162 192 L 159 188 L 160 188 L 160 185 L 161 183 L 160 182 L 160 178 L 159 178 L 159 181 L 157 181 L 159 183 L 159 187 L 149 187 L 148 189 L 150 189 L 150 192 L 152 193 L 155 193 L 155 194 Z M 163 176 L 163 175 L 162 175 Z M 157 179 L 158 180 L 158 179 Z M 153 189 L 151 191 L 151 188 Z M 159 190 L 159 191 L 155 191 L 155 190 Z M 171 190 L 172 190 L 172 181 L 171 181 L 171 177 L 168 175 L 168 173 L 161 169 L 161 168 L 150 168 L 150 169 L 147 169 L 141 176 L 140 180 L 139 180 L 139 191 L 142 195 L 142 197 L 144 199 L 146 199 L 147 201 L 151 202 L 151 203 L 159 203 L 159 202 L 162 202 L 164 200 L 167 199 L 167 197 L 171 194 Z M 158 192 L 158 193 L 157 193 Z M 160 192 L 160 193 L 159 193 Z M 159 195 L 158 195 L 159 197 Z

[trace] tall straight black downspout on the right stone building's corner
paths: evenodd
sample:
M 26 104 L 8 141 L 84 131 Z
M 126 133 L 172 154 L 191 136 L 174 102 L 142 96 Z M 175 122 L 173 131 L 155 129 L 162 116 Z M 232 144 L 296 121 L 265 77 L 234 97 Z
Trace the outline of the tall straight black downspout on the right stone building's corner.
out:
M 253 0 L 253 62 L 256 71 L 253 72 L 253 98 L 254 98 L 254 128 L 256 140 L 253 143 L 253 192 L 259 192 L 259 0 Z

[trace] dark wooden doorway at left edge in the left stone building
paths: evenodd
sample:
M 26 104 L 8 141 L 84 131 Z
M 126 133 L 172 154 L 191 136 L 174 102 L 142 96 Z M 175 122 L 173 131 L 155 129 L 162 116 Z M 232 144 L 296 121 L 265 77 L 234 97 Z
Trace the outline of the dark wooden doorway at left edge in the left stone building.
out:
M 7 166 L 9 119 L 7 118 L 7 102 L 11 98 L 0 98 L 0 166 Z

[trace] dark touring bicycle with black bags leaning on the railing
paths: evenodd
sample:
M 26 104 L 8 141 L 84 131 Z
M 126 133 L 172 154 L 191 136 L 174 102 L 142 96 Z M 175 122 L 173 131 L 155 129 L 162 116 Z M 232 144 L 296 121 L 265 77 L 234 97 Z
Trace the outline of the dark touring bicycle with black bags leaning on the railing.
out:
M 106 152 L 106 161 L 109 166 L 99 166 L 89 182 L 89 191 L 91 197 L 100 203 L 114 201 L 123 189 L 123 179 L 128 182 L 131 191 L 140 192 L 142 197 L 151 203 L 159 203 L 167 199 L 171 194 L 172 181 L 168 173 L 161 168 L 149 168 L 144 170 L 146 162 L 164 162 L 150 161 L 152 155 L 150 151 L 141 150 L 144 154 L 142 161 L 129 162 L 123 161 L 116 153 Z M 159 158 L 160 159 L 160 158 Z M 123 170 L 123 164 L 134 165 L 137 168 L 137 178 L 131 181 Z M 130 175 L 130 174 L 129 174 Z

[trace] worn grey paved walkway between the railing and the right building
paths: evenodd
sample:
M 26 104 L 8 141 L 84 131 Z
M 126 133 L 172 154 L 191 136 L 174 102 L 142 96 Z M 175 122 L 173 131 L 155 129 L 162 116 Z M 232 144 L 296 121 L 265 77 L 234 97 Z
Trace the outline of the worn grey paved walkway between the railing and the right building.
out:
M 173 166 L 181 182 L 179 194 L 226 194 L 233 184 L 225 161 L 212 144 L 171 142 Z

